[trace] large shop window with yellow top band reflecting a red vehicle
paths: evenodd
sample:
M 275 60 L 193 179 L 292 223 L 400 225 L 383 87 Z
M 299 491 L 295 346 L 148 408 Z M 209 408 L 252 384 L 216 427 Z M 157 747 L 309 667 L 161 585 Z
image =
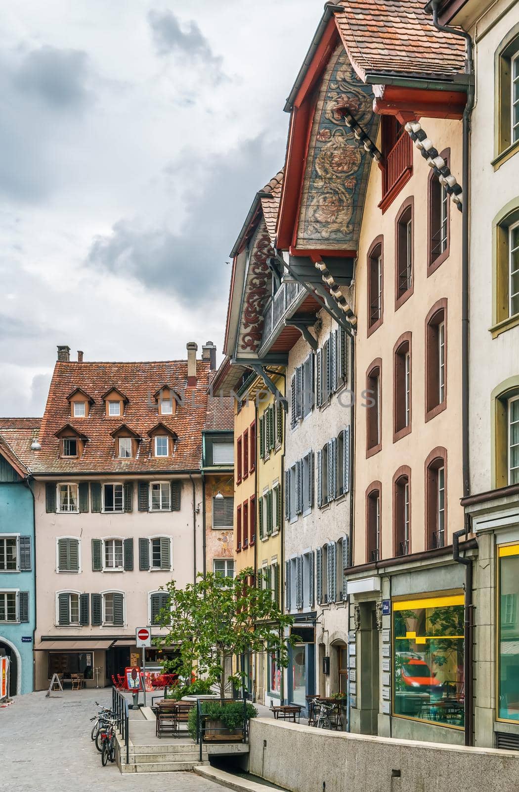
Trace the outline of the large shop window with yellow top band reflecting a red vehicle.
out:
M 393 602 L 393 713 L 464 725 L 464 598 Z

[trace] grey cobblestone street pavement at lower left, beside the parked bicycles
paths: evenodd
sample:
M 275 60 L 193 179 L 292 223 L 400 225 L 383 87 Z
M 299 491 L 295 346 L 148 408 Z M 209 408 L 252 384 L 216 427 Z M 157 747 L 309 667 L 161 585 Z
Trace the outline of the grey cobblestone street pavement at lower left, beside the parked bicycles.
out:
M 112 703 L 111 688 L 65 690 L 17 696 L 0 709 L 2 792 L 216 792 L 218 786 L 194 773 L 121 775 L 116 764 L 102 767 L 90 740 L 96 701 Z M 219 787 L 220 789 L 222 787 Z

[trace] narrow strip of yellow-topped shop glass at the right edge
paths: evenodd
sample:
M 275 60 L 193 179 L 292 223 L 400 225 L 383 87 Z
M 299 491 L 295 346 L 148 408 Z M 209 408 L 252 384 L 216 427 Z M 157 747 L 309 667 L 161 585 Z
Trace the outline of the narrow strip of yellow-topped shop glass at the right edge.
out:
M 498 718 L 519 721 L 519 545 L 499 548 Z

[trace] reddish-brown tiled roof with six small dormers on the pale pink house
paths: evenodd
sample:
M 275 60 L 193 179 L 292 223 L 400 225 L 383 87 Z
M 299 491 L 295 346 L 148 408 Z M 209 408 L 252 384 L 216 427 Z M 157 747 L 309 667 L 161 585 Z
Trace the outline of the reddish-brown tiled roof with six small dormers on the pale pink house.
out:
M 197 386 L 187 388 L 188 364 L 185 360 L 157 363 L 58 361 L 39 433 L 41 451 L 31 451 L 30 442 L 21 442 L 19 455 L 36 475 L 89 472 L 146 474 L 152 470 L 199 470 L 202 463 L 202 431 L 206 425 L 209 365 L 207 361 L 197 360 Z M 184 405 L 177 406 L 174 416 L 157 415 L 157 404 L 153 401 L 153 394 L 165 382 L 170 383 L 181 398 L 185 396 Z M 94 399 L 87 418 L 70 417 L 70 404 L 66 397 L 77 387 L 84 389 Z M 102 394 L 112 387 L 125 394 L 128 403 L 123 415 L 108 418 L 105 416 Z M 211 409 L 215 413 L 213 421 L 218 423 L 218 405 Z M 158 421 L 178 436 L 175 451 L 164 459 L 151 456 L 148 432 Z M 67 424 L 88 437 L 80 459 L 63 459 L 59 456 L 59 439 L 55 433 Z M 110 432 L 121 424 L 126 424 L 132 432 L 142 437 L 135 459 L 116 457 Z

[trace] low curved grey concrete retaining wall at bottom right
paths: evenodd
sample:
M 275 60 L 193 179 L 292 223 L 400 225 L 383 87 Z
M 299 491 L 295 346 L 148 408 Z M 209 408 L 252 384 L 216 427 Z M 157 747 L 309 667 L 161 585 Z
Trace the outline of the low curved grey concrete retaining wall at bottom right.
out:
M 519 753 L 330 732 L 271 718 L 252 719 L 249 759 L 251 773 L 292 792 L 519 790 Z

